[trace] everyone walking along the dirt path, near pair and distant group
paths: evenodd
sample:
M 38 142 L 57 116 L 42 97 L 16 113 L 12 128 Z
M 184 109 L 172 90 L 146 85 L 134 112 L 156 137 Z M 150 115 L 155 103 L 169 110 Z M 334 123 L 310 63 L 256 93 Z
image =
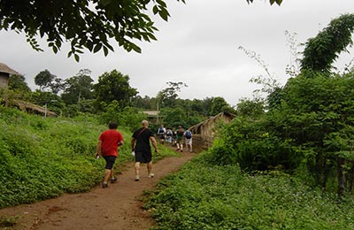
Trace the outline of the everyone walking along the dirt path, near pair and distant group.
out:
M 108 188 L 108 181 L 115 183 L 117 178 L 113 173 L 113 165 L 119 156 L 119 146 L 124 144 L 123 135 L 117 130 L 117 123 L 111 122 L 108 129 L 102 132 L 98 138 L 95 156 L 99 158 L 100 154 L 105 160 L 104 181 L 102 188 Z M 171 132 L 170 132 L 171 131 Z M 163 132 L 163 133 L 162 133 Z M 187 151 L 192 151 L 192 133 L 189 129 L 183 130 L 179 126 L 175 131 L 174 129 L 165 129 L 164 125 L 158 128 L 158 139 L 162 144 L 170 142 L 175 144 L 177 151 L 183 151 L 183 142 L 185 142 Z M 155 139 L 154 133 L 149 128 L 149 122 L 142 120 L 142 127 L 135 130 L 131 139 L 132 153 L 135 156 L 135 181 L 140 180 L 140 167 L 141 164 L 146 164 L 148 169 L 148 178 L 153 178 L 152 173 L 152 152 L 151 146 L 158 153 L 158 143 Z

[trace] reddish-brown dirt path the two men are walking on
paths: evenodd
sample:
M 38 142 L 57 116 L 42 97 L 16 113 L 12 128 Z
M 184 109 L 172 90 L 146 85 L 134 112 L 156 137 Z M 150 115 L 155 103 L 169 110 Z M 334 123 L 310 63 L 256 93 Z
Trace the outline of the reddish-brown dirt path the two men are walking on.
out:
M 19 205 L 0 210 L 1 216 L 19 216 L 16 226 L 0 229 L 48 230 L 137 230 L 154 226 L 148 211 L 142 210 L 142 192 L 155 188 L 158 180 L 177 171 L 196 154 L 165 157 L 153 166 L 154 178 L 147 177 L 142 165 L 141 179 L 135 181 L 134 164 L 119 175 L 119 181 L 109 188 L 93 188 L 88 193 L 60 196 L 39 203 Z

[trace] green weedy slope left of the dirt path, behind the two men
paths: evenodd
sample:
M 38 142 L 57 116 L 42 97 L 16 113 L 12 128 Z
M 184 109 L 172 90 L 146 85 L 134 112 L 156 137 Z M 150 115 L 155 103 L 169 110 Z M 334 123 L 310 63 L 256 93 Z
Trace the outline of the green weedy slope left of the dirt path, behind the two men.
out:
M 104 160 L 96 160 L 94 154 L 98 135 L 106 128 L 93 115 L 43 118 L 0 107 L 0 208 L 96 186 L 103 178 Z M 122 126 L 119 130 L 126 144 L 119 148 L 116 173 L 134 160 L 132 133 Z M 173 152 L 164 149 L 154 160 L 168 154 Z

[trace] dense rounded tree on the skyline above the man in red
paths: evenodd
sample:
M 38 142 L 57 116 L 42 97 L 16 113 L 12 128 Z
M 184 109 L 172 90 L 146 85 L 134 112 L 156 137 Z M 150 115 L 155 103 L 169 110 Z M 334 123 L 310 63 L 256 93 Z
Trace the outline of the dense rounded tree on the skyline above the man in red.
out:
M 113 70 L 99 76 L 98 83 L 94 85 L 97 103 L 112 103 L 116 100 L 121 108 L 130 104 L 133 96 L 138 92 L 129 85 L 129 76 Z M 98 106 L 102 107 L 102 106 Z

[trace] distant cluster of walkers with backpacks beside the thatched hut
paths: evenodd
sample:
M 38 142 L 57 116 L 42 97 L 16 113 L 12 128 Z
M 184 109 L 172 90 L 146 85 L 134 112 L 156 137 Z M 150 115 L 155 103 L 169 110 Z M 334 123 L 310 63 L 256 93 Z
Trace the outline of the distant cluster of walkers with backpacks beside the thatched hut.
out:
M 183 143 L 187 151 L 192 152 L 192 132 L 187 129 L 184 130 L 182 126 L 179 126 L 177 130 L 175 128 L 167 127 L 164 125 L 158 127 L 158 140 L 161 144 L 165 142 L 170 143 L 172 146 L 177 147 L 177 151 L 183 151 Z

